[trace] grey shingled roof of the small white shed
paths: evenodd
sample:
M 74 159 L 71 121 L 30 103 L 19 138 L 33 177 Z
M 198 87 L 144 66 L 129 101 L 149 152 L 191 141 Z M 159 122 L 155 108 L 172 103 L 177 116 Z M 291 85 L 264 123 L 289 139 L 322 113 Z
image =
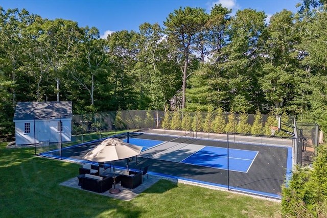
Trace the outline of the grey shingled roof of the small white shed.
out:
M 13 120 L 60 118 L 72 111 L 72 102 L 17 102 Z

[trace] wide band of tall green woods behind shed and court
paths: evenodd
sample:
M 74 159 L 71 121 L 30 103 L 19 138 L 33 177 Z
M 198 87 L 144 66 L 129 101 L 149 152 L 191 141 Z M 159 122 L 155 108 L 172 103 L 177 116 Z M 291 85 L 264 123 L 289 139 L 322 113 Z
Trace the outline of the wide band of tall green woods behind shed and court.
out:
M 17 101 L 126 109 L 289 114 L 327 127 L 325 0 L 298 11 L 179 8 L 164 27 L 100 38 L 96 27 L 0 7 L 0 123 Z M 11 132 L 12 133 L 12 132 Z

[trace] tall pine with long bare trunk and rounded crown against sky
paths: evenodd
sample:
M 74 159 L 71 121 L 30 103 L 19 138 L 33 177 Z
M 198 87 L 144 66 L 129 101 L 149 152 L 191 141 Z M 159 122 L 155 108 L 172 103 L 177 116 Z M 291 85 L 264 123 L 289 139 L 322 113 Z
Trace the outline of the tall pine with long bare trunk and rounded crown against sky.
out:
M 186 7 L 179 8 L 170 13 L 164 25 L 168 34 L 168 41 L 176 46 L 183 60 L 182 74 L 182 109 L 185 108 L 186 78 L 189 76 L 188 67 L 193 47 L 199 41 L 200 33 L 203 30 L 207 14 L 201 8 Z

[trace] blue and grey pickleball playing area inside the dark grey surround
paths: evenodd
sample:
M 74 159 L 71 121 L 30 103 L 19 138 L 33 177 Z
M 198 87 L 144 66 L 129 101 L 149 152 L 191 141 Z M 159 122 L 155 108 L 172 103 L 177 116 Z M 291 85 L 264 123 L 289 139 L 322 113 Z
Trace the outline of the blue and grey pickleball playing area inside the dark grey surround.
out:
M 127 139 L 124 139 L 124 141 L 127 142 Z M 151 158 L 153 159 L 176 161 L 181 163 L 226 170 L 229 168 L 230 171 L 237 171 L 243 173 L 248 172 L 256 155 L 258 155 L 258 151 L 229 149 L 228 154 L 227 148 L 189 145 L 185 143 L 170 143 L 171 145 L 167 147 L 167 144 L 169 144 L 169 142 L 139 138 L 129 138 L 129 143 L 135 144 L 137 146 L 142 146 L 142 151 L 151 148 Z M 167 143 L 166 146 L 165 143 Z M 155 154 L 155 152 L 157 153 Z M 174 155 L 181 155 L 178 154 L 178 152 L 186 154 L 185 158 L 183 158 L 182 160 L 172 158 Z M 160 153 L 162 155 L 159 155 Z M 142 153 L 140 156 L 147 157 Z

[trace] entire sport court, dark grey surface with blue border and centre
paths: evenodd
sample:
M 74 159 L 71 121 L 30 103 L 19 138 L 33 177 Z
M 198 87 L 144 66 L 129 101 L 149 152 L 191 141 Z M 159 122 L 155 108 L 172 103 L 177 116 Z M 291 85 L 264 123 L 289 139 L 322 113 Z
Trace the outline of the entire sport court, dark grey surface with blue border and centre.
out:
M 281 186 L 292 167 L 292 148 L 259 143 L 229 143 L 201 138 L 130 133 L 116 135 L 138 146 L 142 152 L 129 168 L 149 165 L 151 174 L 213 185 L 254 195 L 281 198 Z M 61 150 L 61 158 L 87 162 L 82 157 L 101 141 L 81 143 Z M 228 149 L 227 149 L 228 148 Z M 60 151 L 40 154 L 58 158 Z M 127 161 L 115 161 L 126 168 Z

